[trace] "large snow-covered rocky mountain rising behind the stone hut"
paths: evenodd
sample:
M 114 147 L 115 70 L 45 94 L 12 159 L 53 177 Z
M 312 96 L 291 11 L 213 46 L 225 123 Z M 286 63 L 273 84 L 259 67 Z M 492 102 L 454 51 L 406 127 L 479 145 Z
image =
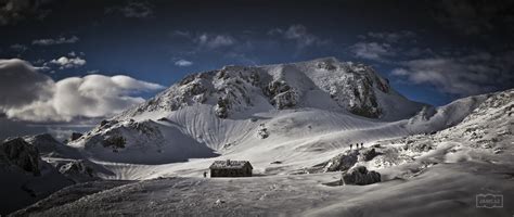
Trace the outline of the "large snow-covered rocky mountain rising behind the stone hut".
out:
M 396 92 L 372 67 L 334 58 L 226 66 L 192 74 L 69 144 L 101 161 L 183 162 L 267 143 L 255 136 L 262 130 L 272 133 L 268 142 L 278 142 L 377 129 L 424 106 Z

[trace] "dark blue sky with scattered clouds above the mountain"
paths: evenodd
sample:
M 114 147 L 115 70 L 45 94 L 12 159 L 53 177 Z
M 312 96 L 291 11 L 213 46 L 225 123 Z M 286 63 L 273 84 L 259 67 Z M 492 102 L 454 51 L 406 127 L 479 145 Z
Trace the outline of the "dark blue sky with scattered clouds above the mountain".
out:
M 18 15 L 4 2 L 0 59 L 54 80 L 123 74 L 167 87 L 223 65 L 336 56 L 435 105 L 514 84 L 512 2 L 46 0 Z

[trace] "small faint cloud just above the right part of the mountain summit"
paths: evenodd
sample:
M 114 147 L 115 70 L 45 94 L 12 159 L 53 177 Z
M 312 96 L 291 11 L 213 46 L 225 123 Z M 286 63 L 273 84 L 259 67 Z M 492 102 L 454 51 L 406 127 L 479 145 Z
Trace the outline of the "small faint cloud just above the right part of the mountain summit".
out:
M 358 42 L 350 47 L 350 51 L 357 58 L 381 61 L 384 56 L 391 56 L 396 53 L 388 43 Z

